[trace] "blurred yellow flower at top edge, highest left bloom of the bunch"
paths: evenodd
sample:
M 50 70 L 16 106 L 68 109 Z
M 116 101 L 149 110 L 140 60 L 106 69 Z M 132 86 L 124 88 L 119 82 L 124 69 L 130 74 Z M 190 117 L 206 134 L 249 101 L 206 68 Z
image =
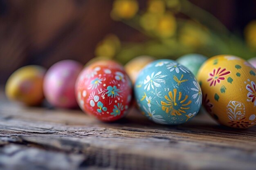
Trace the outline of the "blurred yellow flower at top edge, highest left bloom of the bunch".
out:
M 115 0 L 111 16 L 113 19 L 130 19 L 134 17 L 139 9 L 139 4 L 136 0 Z

